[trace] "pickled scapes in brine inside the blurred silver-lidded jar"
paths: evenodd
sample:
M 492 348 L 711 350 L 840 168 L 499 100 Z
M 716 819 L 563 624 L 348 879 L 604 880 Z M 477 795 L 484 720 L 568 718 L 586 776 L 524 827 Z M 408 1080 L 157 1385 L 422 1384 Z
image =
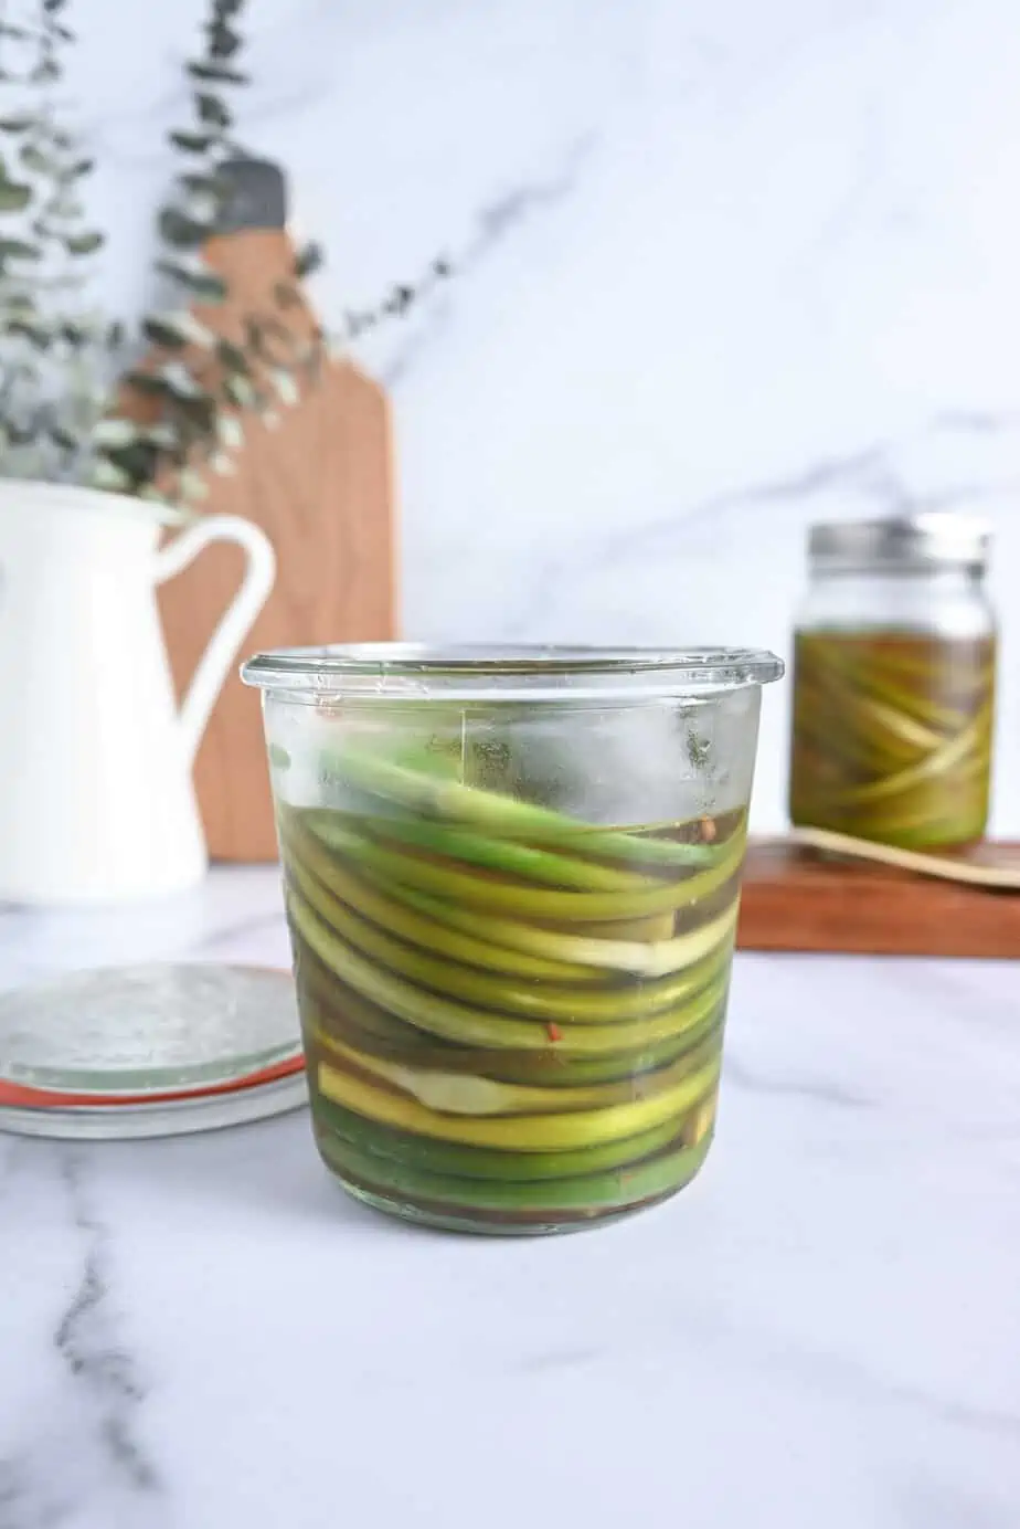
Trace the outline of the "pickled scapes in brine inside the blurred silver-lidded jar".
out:
M 789 816 L 904 849 L 988 820 L 993 638 L 802 631 Z

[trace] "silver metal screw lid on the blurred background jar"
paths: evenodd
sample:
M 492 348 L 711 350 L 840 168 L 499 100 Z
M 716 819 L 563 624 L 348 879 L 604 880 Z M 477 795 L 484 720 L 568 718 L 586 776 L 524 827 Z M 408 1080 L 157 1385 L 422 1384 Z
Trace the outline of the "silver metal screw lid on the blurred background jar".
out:
M 886 520 L 826 521 L 811 528 L 808 555 L 828 573 L 933 572 L 983 573 L 991 534 L 970 515 L 925 514 Z

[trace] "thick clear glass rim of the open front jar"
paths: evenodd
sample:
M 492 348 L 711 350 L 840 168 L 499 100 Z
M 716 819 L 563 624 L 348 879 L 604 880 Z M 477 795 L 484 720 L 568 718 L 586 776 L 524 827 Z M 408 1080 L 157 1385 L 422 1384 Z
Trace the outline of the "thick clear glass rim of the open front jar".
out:
M 353 642 L 276 648 L 241 665 L 246 685 L 325 697 L 566 700 L 683 697 L 768 685 L 765 648 Z

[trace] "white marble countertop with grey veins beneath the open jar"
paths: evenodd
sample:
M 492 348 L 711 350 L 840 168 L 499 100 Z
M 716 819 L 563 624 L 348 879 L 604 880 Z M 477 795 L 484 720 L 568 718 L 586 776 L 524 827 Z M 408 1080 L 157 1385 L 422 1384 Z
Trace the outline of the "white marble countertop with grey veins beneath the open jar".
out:
M 282 962 L 275 873 L 0 916 L 55 966 Z M 0 1529 L 1015 1529 L 1020 979 L 739 957 L 710 1162 L 473 1240 L 348 1202 L 304 1112 L 0 1136 Z

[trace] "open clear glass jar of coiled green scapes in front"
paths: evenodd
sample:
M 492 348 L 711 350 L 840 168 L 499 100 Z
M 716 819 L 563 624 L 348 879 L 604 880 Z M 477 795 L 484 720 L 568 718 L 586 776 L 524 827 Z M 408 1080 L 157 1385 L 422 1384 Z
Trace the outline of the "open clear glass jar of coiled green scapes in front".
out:
M 712 1138 L 770 653 L 261 654 L 311 1118 L 351 1194 L 536 1232 Z

